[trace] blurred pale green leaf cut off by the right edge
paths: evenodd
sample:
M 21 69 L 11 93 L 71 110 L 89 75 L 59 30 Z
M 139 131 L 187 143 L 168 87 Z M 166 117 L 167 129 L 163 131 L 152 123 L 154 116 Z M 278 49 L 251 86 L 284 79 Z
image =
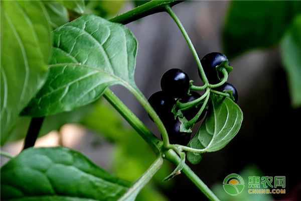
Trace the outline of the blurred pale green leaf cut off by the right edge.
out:
M 298 15 L 291 28 L 281 41 L 281 57 L 286 71 L 291 106 L 301 107 L 301 15 Z

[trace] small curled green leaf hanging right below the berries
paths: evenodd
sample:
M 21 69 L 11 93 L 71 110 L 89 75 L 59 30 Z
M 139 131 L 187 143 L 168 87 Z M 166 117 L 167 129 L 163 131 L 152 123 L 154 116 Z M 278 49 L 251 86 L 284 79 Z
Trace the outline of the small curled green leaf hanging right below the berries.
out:
M 205 121 L 189 145 L 203 152 L 224 148 L 238 133 L 242 123 L 242 111 L 229 97 L 211 94 L 211 105 Z M 187 153 L 188 160 L 196 164 L 202 154 Z

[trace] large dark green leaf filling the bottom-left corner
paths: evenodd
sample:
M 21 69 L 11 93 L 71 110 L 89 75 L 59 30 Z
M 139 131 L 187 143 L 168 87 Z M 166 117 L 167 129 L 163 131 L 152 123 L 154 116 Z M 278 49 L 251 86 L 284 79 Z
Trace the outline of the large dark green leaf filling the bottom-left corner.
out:
M 130 184 L 64 147 L 30 148 L 1 168 L 1 200 L 117 200 Z

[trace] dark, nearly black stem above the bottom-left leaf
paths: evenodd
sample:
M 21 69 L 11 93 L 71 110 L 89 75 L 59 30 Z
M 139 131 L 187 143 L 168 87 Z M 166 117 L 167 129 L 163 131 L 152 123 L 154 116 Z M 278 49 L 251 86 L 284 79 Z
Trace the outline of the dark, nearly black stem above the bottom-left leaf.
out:
M 36 143 L 36 140 L 38 138 L 40 129 L 42 127 L 43 121 L 45 117 L 33 117 L 29 129 L 27 131 L 25 141 L 24 141 L 24 149 L 27 149 L 29 147 L 33 147 Z

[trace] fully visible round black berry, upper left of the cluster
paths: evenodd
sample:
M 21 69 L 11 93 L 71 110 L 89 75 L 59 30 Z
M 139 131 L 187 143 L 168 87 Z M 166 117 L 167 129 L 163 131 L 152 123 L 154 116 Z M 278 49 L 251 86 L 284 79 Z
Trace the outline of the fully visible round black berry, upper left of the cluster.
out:
M 188 92 L 189 77 L 181 69 L 173 68 L 166 71 L 161 78 L 161 88 L 171 97 L 181 97 Z

